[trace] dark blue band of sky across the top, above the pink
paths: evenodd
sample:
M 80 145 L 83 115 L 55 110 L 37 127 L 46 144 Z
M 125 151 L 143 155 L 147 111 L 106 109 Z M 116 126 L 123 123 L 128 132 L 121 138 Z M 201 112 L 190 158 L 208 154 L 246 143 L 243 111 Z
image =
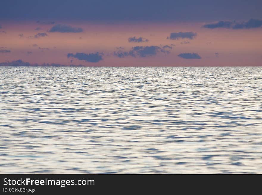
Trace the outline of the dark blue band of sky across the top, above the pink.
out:
M 262 19 L 261 0 L 1 0 L 1 20 L 219 21 Z

